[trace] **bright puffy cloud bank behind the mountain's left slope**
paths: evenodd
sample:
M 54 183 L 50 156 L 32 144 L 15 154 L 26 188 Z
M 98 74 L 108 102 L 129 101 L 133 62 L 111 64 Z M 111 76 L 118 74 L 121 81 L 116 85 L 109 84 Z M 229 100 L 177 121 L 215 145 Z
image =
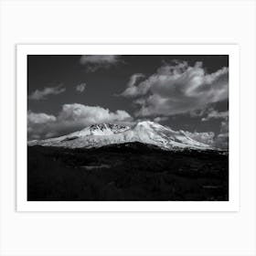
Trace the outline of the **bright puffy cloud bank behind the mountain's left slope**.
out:
M 128 112 L 111 112 L 99 106 L 78 103 L 64 104 L 57 116 L 47 113 L 27 112 L 28 139 L 43 139 L 83 129 L 94 123 L 129 123 L 133 118 Z

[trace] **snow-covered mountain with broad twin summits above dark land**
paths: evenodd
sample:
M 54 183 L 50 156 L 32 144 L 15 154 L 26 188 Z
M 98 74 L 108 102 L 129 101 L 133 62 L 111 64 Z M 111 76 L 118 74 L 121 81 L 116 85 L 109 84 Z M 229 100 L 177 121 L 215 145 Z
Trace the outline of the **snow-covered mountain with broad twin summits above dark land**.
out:
M 139 122 L 131 127 L 110 123 L 93 124 L 81 131 L 57 138 L 29 141 L 28 145 L 91 148 L 132 142 L 154 144 L 165 150 L 211 149 L 208 144 L 197 142 L 184 131 L 174 131 L 169 127 L 150 121 Z

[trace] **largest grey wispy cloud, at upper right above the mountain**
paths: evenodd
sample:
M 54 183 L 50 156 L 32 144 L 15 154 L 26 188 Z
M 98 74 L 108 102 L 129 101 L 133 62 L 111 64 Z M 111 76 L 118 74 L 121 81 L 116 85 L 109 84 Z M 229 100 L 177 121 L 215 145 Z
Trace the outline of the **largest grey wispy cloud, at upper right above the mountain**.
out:
M 130 79 L 131 81 L 131 79 Z M 128 83 L 122 96 L 138 105 L 136 116 L 175 115 L 206 108 L 229 97 L 229 69 L 208 74 L 202 62 L 165 64 L 138 84 Z

